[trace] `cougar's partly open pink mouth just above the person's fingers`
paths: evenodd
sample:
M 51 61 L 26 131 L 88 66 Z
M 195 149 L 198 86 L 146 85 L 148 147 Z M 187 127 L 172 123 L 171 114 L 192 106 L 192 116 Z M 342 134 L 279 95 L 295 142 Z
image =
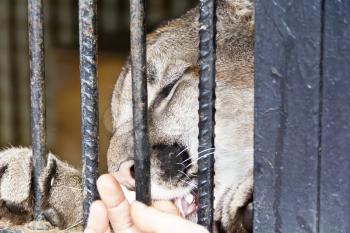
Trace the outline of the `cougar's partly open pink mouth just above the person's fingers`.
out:
M 198 198 L 195 190 L 183 197 L 176 197 L 172 201 L 183 218 L 191 220 L 197 212 Z

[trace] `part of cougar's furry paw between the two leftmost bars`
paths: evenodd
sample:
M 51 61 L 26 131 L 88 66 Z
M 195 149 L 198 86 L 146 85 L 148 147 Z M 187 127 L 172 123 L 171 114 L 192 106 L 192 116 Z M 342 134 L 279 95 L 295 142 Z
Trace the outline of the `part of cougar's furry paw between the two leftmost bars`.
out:
M 81 225 L 83 191 L 79 171 L 49 154 L 40 181 L 45 218 L 60 229 Z

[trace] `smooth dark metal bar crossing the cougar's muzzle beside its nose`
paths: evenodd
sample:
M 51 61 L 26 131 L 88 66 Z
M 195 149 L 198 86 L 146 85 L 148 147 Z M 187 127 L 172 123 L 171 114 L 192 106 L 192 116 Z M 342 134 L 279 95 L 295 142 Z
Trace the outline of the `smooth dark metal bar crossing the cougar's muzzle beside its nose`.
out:
M 150 204 L 144 0 L 130 1 L 130 31 L 136 199 Z

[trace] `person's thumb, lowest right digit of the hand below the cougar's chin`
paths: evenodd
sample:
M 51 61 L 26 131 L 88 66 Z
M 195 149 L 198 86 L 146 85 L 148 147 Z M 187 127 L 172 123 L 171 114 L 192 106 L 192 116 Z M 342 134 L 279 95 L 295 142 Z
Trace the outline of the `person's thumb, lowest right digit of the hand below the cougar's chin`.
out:
M 145 233 L 208 233 L 200 225 L 137 201 L 131 205 L 131 218 L 136 227 Z

